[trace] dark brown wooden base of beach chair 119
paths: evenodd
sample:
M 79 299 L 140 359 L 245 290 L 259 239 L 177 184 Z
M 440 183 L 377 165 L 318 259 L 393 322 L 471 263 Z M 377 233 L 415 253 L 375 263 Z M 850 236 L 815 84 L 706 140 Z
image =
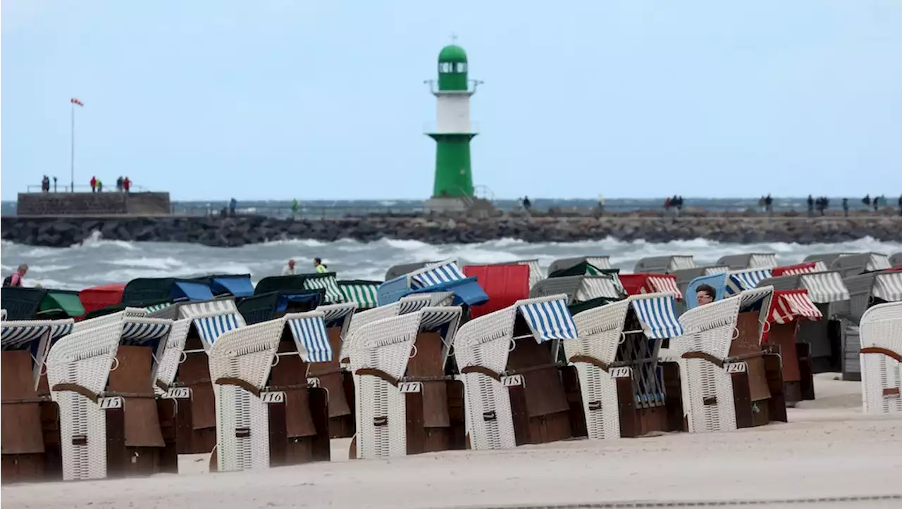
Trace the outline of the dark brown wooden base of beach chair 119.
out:
M 649 432 L 681 432 L 688 426 L 683 417 L 683 395 L 680 389 L 679 365 L 663 362 L 665 403 L 642 408 L 636 402 L 632 377 L 617 378 L 617 401 L 620 413 L 621 437 L 634 438 Z

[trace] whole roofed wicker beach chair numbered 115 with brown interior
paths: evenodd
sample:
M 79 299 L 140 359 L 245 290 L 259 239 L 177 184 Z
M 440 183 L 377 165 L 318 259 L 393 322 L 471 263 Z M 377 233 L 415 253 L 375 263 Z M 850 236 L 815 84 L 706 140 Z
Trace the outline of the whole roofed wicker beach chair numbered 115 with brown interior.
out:
M 64 480 L 150 475 L 166 454 L 154 394 L 170 320 L 129 308 L 79 322 L 47 356 Z

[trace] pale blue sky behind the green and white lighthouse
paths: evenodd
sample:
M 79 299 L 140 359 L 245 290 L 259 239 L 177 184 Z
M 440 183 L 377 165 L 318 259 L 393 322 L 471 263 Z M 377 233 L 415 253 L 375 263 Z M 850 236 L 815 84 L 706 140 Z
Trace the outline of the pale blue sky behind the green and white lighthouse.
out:
M 0 0 L 0 199 L 432 192 L 438 51 L 490 195 L 902 193 L 902 2 Z

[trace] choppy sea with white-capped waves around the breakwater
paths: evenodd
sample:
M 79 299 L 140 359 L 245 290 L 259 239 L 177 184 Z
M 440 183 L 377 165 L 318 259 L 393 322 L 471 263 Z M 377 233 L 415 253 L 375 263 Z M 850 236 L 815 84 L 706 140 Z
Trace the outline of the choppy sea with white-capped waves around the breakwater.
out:
M 605 206 L 625 210 L 659 207 L 663 200 L 605 200 Z M 694 202 L 698 202 L 695 204 Z M 851 200 L 850 200 L 851 201 Z M 686 206 L 710 210 L 744 210 L 758 205 L 757 199 L 736 198 L 702 200 L 686 198 Z M 588 206 L 591 200 L 534 200 L 535 206 Z M 860 203 L 860 201 L 859 201 Z M 7 203 L 8 204 L 8 203 Z M 182 202 L 177 205 L 206 205 L 207 202 Z M 241 204 L 241 202 L 239 202 Z M 316 205 L 310 205 L 316 204 Z M 388 205 L 387 205 L 388 204 Z M 804 198 L 775 198 L 775 208 L 803 210 Z M 213 202 L 211 205 L 226 205 Z M 244 206 L 290 206 L 287 202 L 246 202 Z M 411 209 L 422 202 L 307 202 L 304 206 L 391 206 Z M 241 205 L 239 205 L 241 206 Z M 516 206 L 511 201 L 511 206 Z M 8 207 L 7 207 L 8 208 Z M 14 211 L 14 207 L 13 207 Z M 769 242 L 732 244 L 695 239 L 651 243 L 603 239 L 580 242 L 527 243 L 502 239 L 478 244 L 430 245 L 420 241 L 381 240 L 359 242 L 342 240 L 272 241 L 240 248 L 211 248 L 188 243 L 125 242 L 103 239 L 99 234 L 69 248 L 43 248 L 0 241 L 0 273 L 11 273 L 20 263 L 29 265 L 26 286 L 80 290 L 89 286 L 124 283 L 135 277 L 193 277 L 207 274 L 251 274 L 253 281 L 281 274 L 289 259 L 295 259 L 301 271 L 313 270 L 313 259 L 321 258 L 329 270 L 341 279 L 382 281 L 392 265 L 415 261 L 454 258 L 461 265 L 500 263 L 518 259 L 538 259 L 542 268 L 555 259 L 574 256 L 607 255 L 614 267 L 631 272 L 639 259 L 659 255 L 693 255 L 697 265 L 712 264 L 727 254 L 775 252 L 781 265 L 797 263 L 808 254 L 834 251 L 902 252 L 902 242 L 872 239 L 835 244 L 788 244 Z

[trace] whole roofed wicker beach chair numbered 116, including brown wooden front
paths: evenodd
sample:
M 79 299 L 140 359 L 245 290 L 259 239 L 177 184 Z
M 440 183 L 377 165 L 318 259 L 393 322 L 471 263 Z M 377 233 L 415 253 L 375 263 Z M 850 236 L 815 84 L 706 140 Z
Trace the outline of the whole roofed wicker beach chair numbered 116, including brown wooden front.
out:
M 311 363 L 333 359 L 325 316 L 285 314 L 234 328 L 207 350 L 219 471 L 329 459 L 327 392 L 308 380 Z

